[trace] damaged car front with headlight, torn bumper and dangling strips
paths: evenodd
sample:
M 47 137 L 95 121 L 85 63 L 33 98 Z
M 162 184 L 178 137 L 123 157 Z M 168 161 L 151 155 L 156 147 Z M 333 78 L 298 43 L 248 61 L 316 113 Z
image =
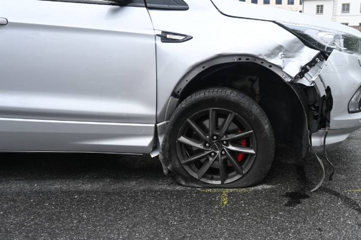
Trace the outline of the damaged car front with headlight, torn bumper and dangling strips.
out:
M 324 180 L 326 149 L 337 146 L 349 134 L 361 127 L 361 38 L 329 29 L 285 24 L 281 26 L 294 33 L 306 46 L 320 50 L 290 83 L 305 86 L 307 96 L 307 132 L 309 143 L 303 148 L 303 156 L 313 151 L 323 170 L 320 182 L 311 190 L 317 190 Z M 304 100 L 305 101 L 305 100 Z M 306 105 L 304 104 L 304 107 Z M 303 146 L 305 146 L 305 139 Z

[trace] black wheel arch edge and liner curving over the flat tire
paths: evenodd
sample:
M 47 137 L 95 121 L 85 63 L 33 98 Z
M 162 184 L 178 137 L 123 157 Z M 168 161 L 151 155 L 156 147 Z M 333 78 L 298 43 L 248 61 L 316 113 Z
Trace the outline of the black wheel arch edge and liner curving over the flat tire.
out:
M 157 127 L 157 138 L 158 138 L 158 145 L 162 143 L 164 131 L 166 128 L 166 123 L 169 121 L 172 113 L 174 112 L 175 108 L 178 104 L 187 97 L 188 95 L 192 94 L 193 92 L 200 90 L 202 88 L 207 87 L 206 80 L 209 76 L 212 76 L 219 72 L 227 71 L 232 67 L 238 66 L 258 66 L 264 73 L 272 73 L 274 80 L 277 81 L 278 85 L 282 85 L 284 87 L 288 87 L 289 90 L 293 93 L 293 99 L 297 100 L 297 107 L 299 107 L 297 117 L 300 119 L 300 130 L 297 134 L 301 135 L 300 145 L 302 146 L 302 155 L 305 156 L 308 144 L 309 144 L 309 133 L 308 133 L 308 124 L 307 124 L 307 97 L 303 90 L 304 85 L 291 83 L 292 77 L 286 74 L 281 67 L 270 63 L 264 59 L 252 56 L 252 55 L 221 55 L 214 57 L 212 59 L 205 60 L 193 66 L 190 71 L 188 71 L 175 85 L 171 96 L 169 97 L 167 107 L 163 112 L 163 116 L 161 117 L 161 122 L 158 124 Z M 276 77 L 277 76 L 277 77 Z M 195 82 L 201 83 L 200 88 L 192 88 L 192 84 L 194 85 Z M 204 81 L 204 82 L 202 82 Z M 224 80 L 219 80 L 218 83 Z M 213 86 L 213 85 L 210 85 Z M 238 90 L 238 89 L 237 89 Z M 275 103 L 276 104 L 276 103 Z M 262 107 L 262 106 L 261 106 Z M 271 106 L 272 107 L 272 106 Z M 265 111 L 267 116 L 269 112 Z M 275 122 L 275 121 L 274 121 Z M 155 147 L 159 149 L 159 146 Z M 156 154 L 159 150 L 156 152 Z M 154 154 L 155 155 L 155 154 Z

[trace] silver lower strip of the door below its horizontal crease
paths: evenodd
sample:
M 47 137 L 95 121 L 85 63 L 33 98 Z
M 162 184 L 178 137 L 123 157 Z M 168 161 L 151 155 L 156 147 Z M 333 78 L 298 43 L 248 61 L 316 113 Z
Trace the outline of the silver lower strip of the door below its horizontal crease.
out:
M 154 124 L 0 118 L 1 151 L 149 153 Z

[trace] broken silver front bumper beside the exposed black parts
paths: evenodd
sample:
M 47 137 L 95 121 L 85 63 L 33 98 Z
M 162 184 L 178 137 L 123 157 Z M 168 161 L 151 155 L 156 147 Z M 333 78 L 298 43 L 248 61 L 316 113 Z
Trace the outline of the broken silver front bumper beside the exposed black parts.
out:
M 327 87 L 331 89 L 334 104 L 330 112 L 326 148 L 334 147 L 361 127 L 361 112 L 348 113 L 348 103 L 361 86 L 361 55 L 333 51 L 319 72 L 315 86 L 318 92 L 324 92 Z M 312 133 L 315 151 L 322 151 L 325 132 Z

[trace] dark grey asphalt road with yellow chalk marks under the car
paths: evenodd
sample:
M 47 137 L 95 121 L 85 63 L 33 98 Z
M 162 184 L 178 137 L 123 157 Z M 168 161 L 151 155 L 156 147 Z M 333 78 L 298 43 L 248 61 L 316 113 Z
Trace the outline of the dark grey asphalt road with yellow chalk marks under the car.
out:
M 233 190 L 178 186 L 146 156 L 0 154 L 0 239 L 361 239 L 360 144 L 329 151 L 314 193 L 316 158 L 280 146 L 262 184 Z

